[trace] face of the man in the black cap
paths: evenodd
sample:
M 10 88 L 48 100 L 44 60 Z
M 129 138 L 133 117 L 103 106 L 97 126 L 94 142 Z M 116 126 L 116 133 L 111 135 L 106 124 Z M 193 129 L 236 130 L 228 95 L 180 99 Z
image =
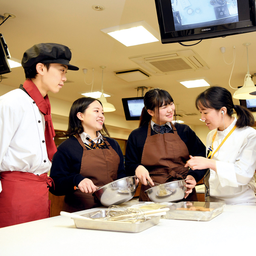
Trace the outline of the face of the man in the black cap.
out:
M 39 63 L 40 64 L 40 63 Z M 58 93 L 64 85 L 64 81 L 67 81 L 67 65 L 52 63 L 49 69 L 41 64 L 41 70 L 38 74 L 41 74 L 40 88 L 46 95 L 49 91 L 52 93 Z

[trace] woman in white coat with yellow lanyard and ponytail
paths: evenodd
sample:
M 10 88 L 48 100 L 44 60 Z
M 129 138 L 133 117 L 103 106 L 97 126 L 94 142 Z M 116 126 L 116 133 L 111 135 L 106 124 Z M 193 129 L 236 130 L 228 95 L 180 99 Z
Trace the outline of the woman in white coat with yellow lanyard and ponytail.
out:
M 196 108 L 209 130 L 207 158 L 192 157 L 186 166 L 206 169 L 206 201 L 255 205 L 256 130 L 249 110 L 234 105 L 225 88 L 209 87 L 198 95 Z M 233 109 L 236 117 L 232 116 Z

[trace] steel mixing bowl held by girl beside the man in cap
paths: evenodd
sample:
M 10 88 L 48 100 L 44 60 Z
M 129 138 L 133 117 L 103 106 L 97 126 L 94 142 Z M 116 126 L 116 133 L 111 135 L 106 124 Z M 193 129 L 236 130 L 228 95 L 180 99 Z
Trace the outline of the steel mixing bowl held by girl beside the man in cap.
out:
M 93 195 L 106 207 L 119 205 L 134 197 L 137 177 L 130 176 L 115 180 L 97 189 Z

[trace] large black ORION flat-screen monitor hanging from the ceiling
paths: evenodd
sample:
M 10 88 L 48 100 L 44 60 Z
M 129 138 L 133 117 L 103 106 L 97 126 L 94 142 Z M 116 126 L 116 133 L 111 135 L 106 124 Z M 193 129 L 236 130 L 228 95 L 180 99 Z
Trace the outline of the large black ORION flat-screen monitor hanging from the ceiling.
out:
M 155 0 L 163 44 L 256 31 L 255 0 Z

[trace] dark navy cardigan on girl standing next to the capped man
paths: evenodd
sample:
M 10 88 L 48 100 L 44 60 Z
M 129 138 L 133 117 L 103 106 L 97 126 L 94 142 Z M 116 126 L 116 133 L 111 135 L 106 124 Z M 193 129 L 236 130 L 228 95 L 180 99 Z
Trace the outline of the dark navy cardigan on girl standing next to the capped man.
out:
M 126 177 L 123 154 L 119 144 L 112 138 L 105 138 L 120 157 L 117 179 Z M 50 171 L 50 177 L 53 179 L 54 185 L 52 184 L 49 191 L 53 195 L 68 195 L 75 192 L 74 186 L 78 186 L 81 180 L 86 178 L 80 174 L 82 155 L 83 147 L 74 136 L 58 146 L 57 152 L 52 158 Z

